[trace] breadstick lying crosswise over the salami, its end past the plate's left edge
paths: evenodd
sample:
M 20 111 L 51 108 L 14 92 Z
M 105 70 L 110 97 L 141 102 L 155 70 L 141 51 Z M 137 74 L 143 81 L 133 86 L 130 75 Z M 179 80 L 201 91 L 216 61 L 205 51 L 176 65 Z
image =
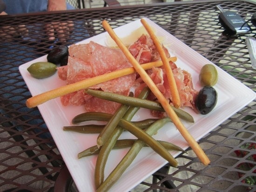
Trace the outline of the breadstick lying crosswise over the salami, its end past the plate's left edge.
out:
M 177 60 L 176 57 L 169 58 L 170 61 L 175 62 Z M 145 63 L 141 65 L 145 70 L 152 68 L 153 66 L 162 66 L 162 61 L 155 61 L 150 63 Z M 61 86 L 59 88 L 47 91 L 45 93 L 41 93 L 39 95 L 35 95 L 34 97 L 31 97 L 27 99 L 26 105 L 29 108 L 36 107 L 42 103 L 45 103 L 48 100 L 66 95 L 68 93 L 72 93 L 75 91 L 79 91 L 81 89 L 88 88 L 90 86 L 97 85 L 99 83 L 103 83 L 105 81 L 116 79 L 118 77 L 122 77 L 128 74 L 135 73 L 134 67 L 127 67 L 124 69 L 116 70 L 114 72 L 105 73 L 96 77 L 84 79 L 81 81 L 78 81 L 76 83 L 72 83 L 66 86 Z

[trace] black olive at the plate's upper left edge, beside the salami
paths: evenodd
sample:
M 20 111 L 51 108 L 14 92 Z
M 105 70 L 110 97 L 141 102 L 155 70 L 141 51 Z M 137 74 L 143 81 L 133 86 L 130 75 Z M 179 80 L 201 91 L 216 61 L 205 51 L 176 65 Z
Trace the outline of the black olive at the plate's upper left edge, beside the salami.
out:
M 55 65 L 67 65 L 68 47 L 55 46 L 47 55 L 47 61 Z

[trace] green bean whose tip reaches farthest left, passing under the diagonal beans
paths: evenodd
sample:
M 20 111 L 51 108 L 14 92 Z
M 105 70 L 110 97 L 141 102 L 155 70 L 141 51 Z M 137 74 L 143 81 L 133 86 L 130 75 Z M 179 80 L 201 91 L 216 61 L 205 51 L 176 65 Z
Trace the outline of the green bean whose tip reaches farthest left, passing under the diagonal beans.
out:
M 121 119 L 122 120 L 122 119 Z M 152 123 L 154 123 L 157 119 L 144 119 L 141 121 L 132 121 L 136 126 L 141 129 L 146 129 Z M 105 125 L 83 125 L 83 126 L 64 126 L 64 131 L 73 131 L 73 132 L 81 132 L 81 133 L 100 133 Z

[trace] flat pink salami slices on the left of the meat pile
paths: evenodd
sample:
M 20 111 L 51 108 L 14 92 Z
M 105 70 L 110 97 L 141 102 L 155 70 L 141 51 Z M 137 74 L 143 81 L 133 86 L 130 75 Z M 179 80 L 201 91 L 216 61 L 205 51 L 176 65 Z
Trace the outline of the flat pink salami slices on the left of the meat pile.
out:
M 70 46 L 69 55 L 67 66 L 58 69 L 59 77 L 66 79 L 67 84 L 131 66 L 121 50 L 101 46 L 93 41 L 88 44 Z M 135 79 L 136 74 L 131 74 L 106 81 L 90 88 L 128 95 L 131 86 L 134 85 Z M 107 112 L 107 108 L 109 108 L 109 110 L 111 109 L 111 113 L 120 106 L 109 101 L 103 102 L 102 99 L 99 100 L 90 95 L 84 95 L 82 92 L 83 90 L 80 90 L 62 96 L 62 104 L 64 106 L 85 105 L 85 109 L 88 112 Z

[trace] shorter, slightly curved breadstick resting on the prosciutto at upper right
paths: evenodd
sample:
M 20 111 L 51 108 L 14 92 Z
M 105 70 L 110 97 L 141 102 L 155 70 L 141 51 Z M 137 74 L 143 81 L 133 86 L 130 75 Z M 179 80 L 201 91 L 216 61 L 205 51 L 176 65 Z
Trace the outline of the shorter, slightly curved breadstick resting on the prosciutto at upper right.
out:
M 141 23 L 142 25 L 145 27 L 145 29 L 147 30 L 149 36 L 151 37 L 151 39 L 153 40 L 155 47 L 160 55 L 160 58 L 162 60 L 163 63 L 163 67 L 166 71 L 166 75 L 167 75 L 167 79 L 168 79 L 168 83 L 169 83 L 169 88 L 171 91 L 171 96 L 172 96 L 172 102 L 175 108 L 179 108 L 181 106 L 181 99 L 179 96 L 179 92 L 177 89 L 177 85 L 172 73 L 172 69 L 169 65 L 169 61 L 167 59 L 167 56 L 163 50 L 163 47 L 161 45 L 161 43 L 159 42 L 159 40 L 157 39 L 153 29 L 148 25 L 147 21 L 144 19 L 141 19 Z

